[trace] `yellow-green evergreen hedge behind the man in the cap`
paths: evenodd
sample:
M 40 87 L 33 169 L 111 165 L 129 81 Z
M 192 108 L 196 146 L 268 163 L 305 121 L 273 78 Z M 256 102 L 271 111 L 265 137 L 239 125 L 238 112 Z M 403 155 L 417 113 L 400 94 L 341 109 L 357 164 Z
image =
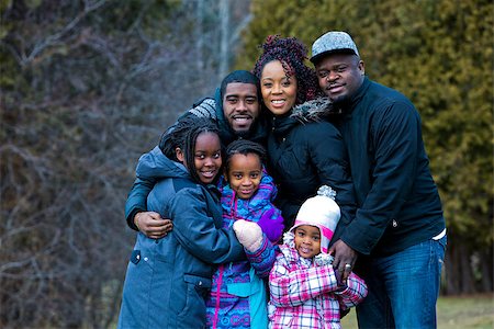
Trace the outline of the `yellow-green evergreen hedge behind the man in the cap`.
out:
M 366 73 L 414 102 L 448 226 L 444 291 L 492 291 L 493 2 L 254 0 L 252 12 L 238 63 L 254 64 L 269 34 L 310 47 L 347 31 Z

